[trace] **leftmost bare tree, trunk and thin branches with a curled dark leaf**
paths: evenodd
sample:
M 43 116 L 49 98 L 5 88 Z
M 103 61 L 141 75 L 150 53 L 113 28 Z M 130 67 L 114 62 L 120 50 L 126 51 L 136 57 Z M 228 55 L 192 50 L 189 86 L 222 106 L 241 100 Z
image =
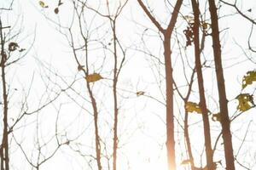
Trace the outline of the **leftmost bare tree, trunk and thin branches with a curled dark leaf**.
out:
M 1 8 L 1 10 L 6 11 L 7 18 L 9 18 L 9 16 L 13 14 L 12 13 L 13 3 L 14 1 L 11 1 L 9 8 Z M 16 21 L 15 24 L 17 25 L 17 23 L 20 21 L 20 18 L 17 18 L 15 21 Z M 22 38 L 22 35 L 21 35 L 22 29 L 20 27 L 16 28 L 15 24 L 14 26 L 4 26 L 3 19 L 2 18 L 0 19 L 0 41 L 1 41 L 0 66 L 1 66 L 1 77 L 2 77 L 1 80 L 2 80 L 2 89 L 3 89 L 3 92 L 2 92 L 3 102 L 1 102 L 1 105 L 3 105 L 3 132 L 1 133 L 2 141 L 0 144 L 1 170 L 9 170 L 12 168 L 13 161 L 10 158 L 12 156 L 15 158 L 15 154 L 12 152 L 11 150 L 12 148 L 10 147 L 10 146 L 13 146 L 13 144 L 11 143 L 12 141 L 15 141 L 15 144 L 14 144 L 15 146 L 20 147 L 20 151 L 23 153 L 23 155 L 26 157 L 27 161 L 32 165 L 32 167 L 37 167 L 37 169 L 39 169 L 39 165 L 43 164 L 44 161 L 49 160 L 49 158 L 55 155 L 55 153 L 52 156 L 49 156 L 47 159 L 45 159 L 42 163 L 38 163 L 38 166 L 35 166 L 34 164 L 32 164 L 32 162 L 28 160 L 27 153 L 29 151 L 26 153 L 26 151 L 23 150 L 22 142 L 19 140 L 19 138 L 17 138 L 17 136 L 19 136 L 20 133 L 19 132 L 16 133 L 16 131 L 19 131 L 21 128 L 25 129 L 26 126 L 28 126 L 28 125 L 21 125 L 22 121 L 26 120 L 27 116 L 39 114 L 40 111 L 42 111 L 45 107 L 54 103 L 54 101 L 58 99 L 58 97 L 61 95 L 62 89 L 59 91 L 59 93 L 55 95 L 53 99 L 47 99 L 47 101 L 45 101 L 44 104 L 38 105 L 37 109 L 35 110 L 29 109 L 31 104 L 28 104 L 27 100 L 32 91 L 32 83 L 34 81 L 34 77 L 29 77 L 29 79 L 31 79 L 31 84 L 29 84 L 29 87 L 26 87 L 27 89 L 22 87 L 21 84 L 19 84 L 20 88 L 16 88 L 15 86 L 18 86 L 18 85 L 13 84 L 13 82 L 10 82 L 10 77 L 15 77 L 18 79 L 19 76 L 10 75 L 8 73 L 9 73 L 9 70 L 12 70 L 12 69 L 15 70 L 15 65 L 19 65 L 20 61 L 26 57 L 29 51 L 31 51 L 35 37 L 33 37 L 31 45 L 27 46 L 27 48 L 21 48 L 21 45 L 20 45 L 21 42 L 19 41 Z M 16 31 L 16 29 L 18 30 Z M 13 96 L 14 94 L 18 94 L 19 91 L 22 97 L 20 97 L 20 99 L 17 99 L 18 101 L 16 101 L 16 99 Z M 48 93 L 45 93 L 45 94 L 48 94 Z M 44 98 L 44 95 L 42 96 L 42 99 L 43 98 Z M 14 103 L 15 105 L 17 104 L 19 105 L 20 111 L 16 111 L 13 108 Z M 32 105 L 35 105 L 35 104 L 36 102 L 34 102 Z M 32 137 L 32 135 L 29 137 Z

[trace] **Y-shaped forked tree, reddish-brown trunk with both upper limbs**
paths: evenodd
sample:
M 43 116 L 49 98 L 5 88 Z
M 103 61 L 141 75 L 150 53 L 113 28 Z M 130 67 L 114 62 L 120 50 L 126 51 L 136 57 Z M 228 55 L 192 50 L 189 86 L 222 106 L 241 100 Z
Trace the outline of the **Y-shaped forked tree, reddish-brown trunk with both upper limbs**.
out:
M 172 77 L 172 59 L 171 59 L 171 37 L 172 31 L 176 24 L 177 15 L 179 9 L 182 6 L 183 0 L 177 0 L 177 3 L 173 9 L 172 18 L 164 29 L 160 26 L 159 22 L 155 20 L 154 16 L 150 14 L 148 8 L 144 5 L 143 1 L 137 1 L 139 5 L 143 8 L 145 14 L 152 21 L 154 26 L 161 32 L 164 37 L 164 57 L 165 57 L 165 68 L 166 68 L 166 148 L 167 148 L 167 160 L 168 169 L 176 169 L 175 161 L 175 139 L 174 139 L 174 114 L 173 114 L 173 77 Z

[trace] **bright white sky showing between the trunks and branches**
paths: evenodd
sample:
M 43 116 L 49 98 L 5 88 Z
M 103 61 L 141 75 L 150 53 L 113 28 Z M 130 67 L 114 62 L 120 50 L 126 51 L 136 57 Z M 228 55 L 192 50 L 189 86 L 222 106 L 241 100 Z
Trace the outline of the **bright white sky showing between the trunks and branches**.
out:
M 91 3 L 92 2 L 92 3 Z M 100 1 L 90 1 L 91 5 L 95 8 L 98 6 Z M 119 1 L 111 1 L 111 8 L 116 8 Z M 124 1 L 122 1 L 123 3 Z M 185 1 L 183 6 L 182 14 L 190 14 L 189 1 Z M 49 5 L 49 8 L 41 8 L 38 1 L 35 0 L 15 0 L 14 10 L 8 19 L 5 19 L 6 13 L 1 15 L 1 19 L 7 21 L 8 24 L 13 24 L 17 18 L 19 18 L 18 24 L 15 26 L 17 29 L 22 27 L 21 36 L 18 38 L 20 46 L 28 48 L 31 45 L 33 38 L 35 36 L 35 42 L 33 42 L 32 49 L 29 54 L 27 54 L 26 59 L 21 60 L 19 65 L 15 65 L 14 70 L 9 70 L 9 82 L 13 82 L 11 85 L 18 87 L 18 92 L 13 93 L 16 100 L 12 101 L 12 111 L 18 112 L 20 109 L 20 102 L 25 98 L 22 95 L 22 88 L 25 91 L 28 90 L 29 84 L 32 81 L 34 75 L 34 82 L 32 83 L 31 97 L 29 97 L 28 102 L 29 110 L 35 109 L 38 105 L 42 105 L 45 101 L 52 99 L 55 94 L 50 90 L 58 91 L 60 88 L 56 84 L 60 84 L 61 88 L 67 87 L 67 83 L 73 81 L 73 79 L 80 79 L 77 81 L 73 88 L 75 88 L 80 94 L 87 95 L 86 90 L 84 90 L 84 80 L 83 75 L 77 71 L 77 65 L 73 59 L 73 54 L 71 48 L 67 43 L 66 37 L 61 35 L 58 30 L 58 26 L 52 23 L 51 20 L 55 22 L 60 22 L 62 26 L 69 26 L 70 22 L 73 20 L 73 8 L 68 0 L 63 0 L 63 5 L 61 5 L 59 14 L 54 14 L 54 8 L 58 3 L 57 0 L 44 0 L 44 3 Z M 2 5 L 0 3 L 0 5 Z M 4 3 L 5 4 L 5 3 Z M 162 26 L 165 26 L 167 20 L 169 20 L 169 12 L 163 8 L 164 4 L 156 1 L 148 1 L 151 9 Z M 241 5 L 241 4 L 240 4 Z M 104 6 L 101 6 L 102 9 Z M 169 6 L 170 7 L 170 6 Z M 247 1 L 243 3 L 242 11 L 245 11 L 248 16 L 256 17 L 256 3 L 253 1 Z M 253 8 L 253 12 L 247 12 L 248 8 Z M 105 9 L 102 9 L 104 11 Z M 114 9 L 113 9 L 114 10 Z M 223 7 L 220 10 L 220 15 L 233 14 L 234 9 Z M 87 14 L 87 13 L 86 13 Z M 45 18 L 48 17 L 48 19 Z M 93 18 L 93 13 L 88 12 L 86 19 L 90 20 Z M 88 17 L 88 18 L 87 18 Z M 207 14 L 208 17 L 208 14 Z M 76 23 L 76 22 L 75 22 Z M 96 16 L 93 20 L 91 27 L 102 26 L 104 31 L 110 31 L 108 20 L 102 19 L 100 16 Z M 178 19 L 177 35 L 179 38 L 183 38 L 181 43 L 185 43 L 184 36 L 182 34 L 183 29 L 185 29 L 185 23 L 180 17 Z M 241 48 L 236 45 L 239 42 L 242 47 L 247 48 L 247 37 L 249 34 L 250 23 L 243 20 L 241 17 L 227 16 L 220 20 L 220 27 L 222 33 L 222 44 L 223 48 L 223 58 L 224 58 L 224 75 L 227 87 L 228 99 L 230 100 L 230 115 L 236 111 L 237 102 L 235 100 L 236 96 L 241 92 L 241 77 L 250 70 L 255 68 L 255 64 L 247 60 L 247 57 L 243 54 Z M 77 26 L 74 26 L 77 28 Z M 145 29 L 148 28 L 148 31 Z M 125 63 L 124 70 L 121 73 L 121 78 L 119 81 L 120 97 L 125 97 L 120 99 L 120 123 L 119 123 L 119 144 L 122 146 L 119 150 L 119 169 L 120 170 L 137 170 L 137 169 L 147 169 L 147 170 L 166 170 L 166 137 L 165 137 L 165 107 L 159 102 L 147 98 L 145 96 L 136 96 L 137 91 L 144 91 L 147 95 L 153 96 L 164 102 L 163 89 L 165 83 L 163 81 L 163 65 L 160 65 L 156 60 L 148 57 L 147 55 L 138 52 L 136 49 L 148 50 L 148 52 L 154 54 L 156 57 L 162 58 L 162 47 L 160 44 L 160 37 L 158 36 L 155 27 L 150 23 L 147 17 L 143 14 L 141 8 L 139 8 L 135 0 L 131 0 L 124 8 L 123 13 L 120 15 L 119 20 L 117 20 L 118 36 L 125 48 L 129 48 L 127 51 L 127 62 Z M 143 31 L 146 35 L 143 37 L 146 42 L 147 48 L 141 42 Z M 67 33 L 65 31 L 64 33 Z M 93 38 L 98 38 L 105 32 L 99 31 L 92 34 Z M 78 31 L 74 31 L 74 34 L 79 34 Z M 255 37 L 255 33 L 253 34 Z M 79 39 L 79 38 L 78 38 Z M 255 38 L 253 38 L 255 39 Z M 111 41 L 111 37 L 103 37 L 100 39 L 102 42 Z M 79 41 L 77 41 L 79 43 Z M 253 42 L 252 42 L 253 43 Z M 173 63 L 174 63 L 174 77 L 176 78 L 178 86 L 184 85 L 184 76 L 181 57 L 179 51 L 177 50 L 177 42 L 173 39 Z M 206 40 L 207 48 L 204 53 L 204 58 L 207 59 L 207 65 L 212 66 L 212 52 L 211 52 L 211 41 L 208 38 Z M 254 41 L 255 44 L 255 41 Z M 99 101 L 100 117 L 101 117 L 101 130 L 102 130 L 102 142 L 107 144 L 112 144 L 111 139 L 112 133 L 110 132 L 112 122 L 109 120 L 113 119 L 111 107 L 112 103 L 108 102 L 109 99 L 109 86 L 111 81 L 111 58 L 107 54 L 106 65 L 101 69 L 102 60 L 104 59 L 104 54 L 101 49 L 95 50 L 94 48 L 99 47 L 99 43 L 93 43 L 91 47 L 90 55 L 93 56 L 93 61 L 96 64 L 92 66 L 91 71 L 102 71 L 101 74 L 106 79 L 97 82 L 94 87 L 95 92 L 98 92 L 97 99 Z M 192 47 L 187 49 L 188 56 L 192 56 Z M 184 53 L 184 52 L 183 52 Z M 83 55 L 81 54 L 80 59 L 83 60 Z M 188 60 L 190 64 L 193 63 L 193 58 L 190 57 Z M 255 59 L 255 54 L 252 54 Z M 44 65 L 46 66 L 44 66 Z M 186 71 L 189 71 L 189 66 L 185 66 Z M 61 77 L 55 75 L 58 73 Z M 214 112 L 218 112 L 216 103 L 218 102 L 217 87 L 214 77 L 214 69 L 209 68 L 205 70 L 205 86 L 207 94 L 207 104 L 209 109 Z M 187 76 L 189 77 L 189 74 Z M 50 80 L 49 78 L 50 77 Z M 44 78 L 44 80 L 42 80 Z M 215 84 L 214 84 L 215 83 Z M 48 87 L 48 88 L 46 88 Z M 191 96 L 191 100 L 198 102 L 197 86 L 195 83 L 195 92 Z M 253 85 L 255 88 L 255 85 Z M 248 92 L 252 92 L 253 88 L 248 89 Z M 11 88 L 12 89 L 12 88 Z M 181 88 L 185 93 L 187 88 Z M 67 95 L 68 94 L 68 95 Z M 61 95 L 55 105 L 49 105 L 43 111 L 40 111 L 38 115 L 26 117 L 26 119 L 20 123 L 20 129 L 17 130 L 17 139 L 22 141 L 23 147 L 29 154 L 29 158 L 32 157 L 33 161 L 36 161 L 37 151 L 36 151 L 36 138 L 32 135 L 36 132 L 36 120 L 39 117 L 40 128 L 38 129 L 40 142 L 43 144 L 52 136 L 55 135 L 55 120 L 59 116 L 58 129 L 60 132 L 60 139 L 65 141 L 65 135 L 68 139 L 75 139 L 71 142 L 73 150 L 79 149 L 83 152 L 84 157 L 79 156 L 68 146 L 63 146 L 61 150 L 58 150 L 55 156 L 53 156 L 49 161 L 47 161 L 43 167 L 44 169 L 58 169 L 70 170 L 70 169 L 90 169 L 86 161 L 90 161 L 90 155 L 94 155 L 94 150 L 90 148 L 93 144 L 93 123 L 92 116 L 88 113 L 90 111 L 90 103 L 85 101 L 88 99 L 87 96 L 83 98 L 75 94 L 72 90 L 68 91 L 67 94 Z M 43 95 L 43 98 L 42 98 Z M 35 101 L 42 99 L 41 104 Z M 77 103 L 75 103 L 76 101 Z M 176 95 L 175 101 L 175 111 L 177 113 L 177 119 L 179 122 L 183 120 L 183 104 L 181 99 Z M 79 107 L 82 105 L 84 111 Z M 16 113 L 15 112 L 15 113 Z M 178 114 L 180 112 L 180 114 Z M 59 115 L 58 115 L 59 114 Z M 241 157 L 244 156 L 241 161 L 245 162 L 247 166 L 254 166 L 256 168 L 256 162 L 252 161 L 252 157 L 246 155 L 249 147 L 253 147 L 253 142 L 255 142 L 255 132 L 253 127 L 256 126 L 256 119 L 253 115 L 253 111 L 247 111 L 247 116 L 241 116 L 239 120 L 234 122 L 232 129 L 234 131 L 234 148 L 237 151 L 241 144 L 241 139 L 245 135 L 245 130 L 247 129 L 248 122 L 252 121 L 250 127 L 250 133 L 248 134 L 248 142 L 244 144 L 241 149 Z M 191 124 L 189 130 L 191 133 L 191 143 L 195 151 L 195 163 L 199 166 L 201 163 L 200 156 L 203 151 L 203 134 L 202 134 L 202 123 L 201 116 L 196 114 L 191 114 L 189 122 Z M 1 122 L 2 123 L 2 122 Z M 27 126 L 23 127 L 23 125 Z M 212 136 L 213 139 L 217 136 L 220 125 L 218 122 L 211 122 L 212 124 Z M 64 130 L 67 128 L 66 130 Z M 178 170 L 185 169 L 179 164 L 183 159 L 186 159 L 186 154 L 184 151 L 184 141 L 183 141 L 183 130 L 176 124 L 177 129 L 177 166 Z M 81 134 L 79 136 L 79 134 Z M 79 137 L 78 137 L 79 136 Z M 13 169 L 28 169 L 29 165 L 26 162 L 24 156 L 20 152 L 17 145 L 13 141 L 14 147 L 12 149 L 13 154 Z M 108 146 L 107 146 L 108 147 Z M 49 155 L 55 148 L 55 139 L 51 139 L 47 147 L 44 148 L 45 155 Z M 220 150 L 222 150 L 221 144 L 219 144 Z M 255 146 L 250 149 L 251 153 L 255 154 Z M 250 153 L 250 154 L 251 154 Z M 22 158 L 20 158 L 22 157 Z M 217 151 L 215 161 L 223 158 L 223 153 Z M 240 158 L 240 157 L 239 157 Z M 105 160 L 106 161 L 106 160 Z M 103 164 L 107 163 L 103 161 Z M 129 161 L 129 163 L 128 163 Z M 205 159 L 202 157 L 202 161 Z M 254 164 L 253 164 L 254 163 Z M 128 166 L 129 164 L 129 166 Z M 95 166 L 95 162 L 92 163 Z M 96 167 L 93 167 L 96 169 Z M 107 169 L 107 168 L 106 168 Z M 222 168 L 219 168 L 222 169 Z

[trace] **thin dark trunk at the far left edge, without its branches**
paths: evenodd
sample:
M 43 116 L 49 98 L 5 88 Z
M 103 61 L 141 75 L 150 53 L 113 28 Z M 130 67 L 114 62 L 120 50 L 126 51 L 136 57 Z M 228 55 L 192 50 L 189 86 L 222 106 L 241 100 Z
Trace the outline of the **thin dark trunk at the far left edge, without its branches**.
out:
M 1 144 L 1 170 L 9 170 L 9 139 L 8 139 L 8 94 L 5 80 L 5 62 L 6 54 L 4 53 L 4 38 L 2 21 L 0 20 L 0 36 L 1 36 L 1 71 L 3 86 L 3 139 Z M 3 168 L 3 164 L 4 167 Z

